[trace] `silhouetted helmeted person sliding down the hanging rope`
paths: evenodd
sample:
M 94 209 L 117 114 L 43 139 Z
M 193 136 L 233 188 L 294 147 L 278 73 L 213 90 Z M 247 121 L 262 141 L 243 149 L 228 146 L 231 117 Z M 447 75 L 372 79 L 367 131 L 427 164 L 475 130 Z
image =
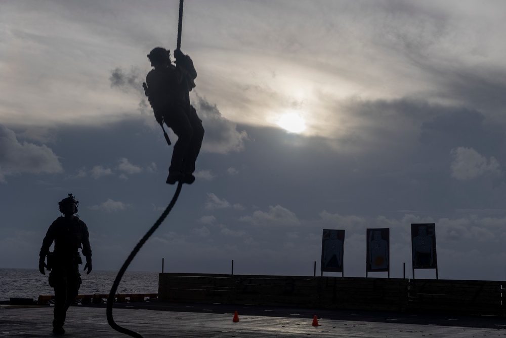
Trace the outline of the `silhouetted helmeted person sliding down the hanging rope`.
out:
M 175 50 L 174 57 L 176 65 L 171 62 L 170 51 L 154 48 L 148 54 L 154 69 L 147 74 L 143 86 L 156 122 L 162 126 L 165 122 L 178 136 L 166 183 L 183 180 L 191 184 L 195 181 L 195 161 L 204 137 L 202 121 L 190 104 L 189 92 L 195 87 L 197 72 L 188 55 Z

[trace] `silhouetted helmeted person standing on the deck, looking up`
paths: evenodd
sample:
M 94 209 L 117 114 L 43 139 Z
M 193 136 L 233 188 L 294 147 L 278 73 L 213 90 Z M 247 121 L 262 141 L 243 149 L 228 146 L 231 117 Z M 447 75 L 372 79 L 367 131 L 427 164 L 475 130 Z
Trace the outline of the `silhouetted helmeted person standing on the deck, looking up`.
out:
M 55 308 L 53 320 L 53 333 L 63 334 L 66 313 L 69 306 L 74 303 L 81 285 L 79 264 L 82 264 L 81 255 L 86 257 L 86 274 L 92 271 L 92 250 L 88 228 L 77 215 L 78 201 L 72 194 L 58 202 L 60 212 L 64 215 L 58 217 L 49 227 L 40 248 L 38 270 L 46 275 L 45 268 L 51 270 L 49 285 L 55 289 Z M 55 242 L 53 252 L 49 248 Z M 45 259 L 48 256 L 48 264 Z

